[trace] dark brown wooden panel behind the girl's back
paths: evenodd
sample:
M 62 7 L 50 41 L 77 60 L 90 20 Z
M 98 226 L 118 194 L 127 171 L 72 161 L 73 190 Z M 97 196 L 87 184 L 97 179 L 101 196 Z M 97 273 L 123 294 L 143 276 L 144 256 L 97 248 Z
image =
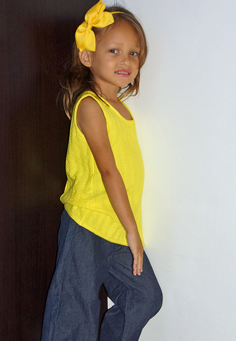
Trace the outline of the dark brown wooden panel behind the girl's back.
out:
M 58 75 L 96 1 L 1 4 L 0 340 L 39 341 L 63 209 L 69 120 Z M 102 309 L 106 309 L 105 293 Z

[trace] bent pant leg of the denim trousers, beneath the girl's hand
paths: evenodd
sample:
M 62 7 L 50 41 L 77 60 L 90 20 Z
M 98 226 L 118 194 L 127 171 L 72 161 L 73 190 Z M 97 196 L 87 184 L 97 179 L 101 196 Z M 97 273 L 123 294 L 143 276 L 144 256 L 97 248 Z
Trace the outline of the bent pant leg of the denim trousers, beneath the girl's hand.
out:
M 140 276 L 132 274 L 132 265 L 129 247 L 116 245 L 109 275 L 104 281 L 115 304 L 105 314 L 100 341 L 138 341 L 145 324 L 162 306 L 162 291 L 145 252 Z

